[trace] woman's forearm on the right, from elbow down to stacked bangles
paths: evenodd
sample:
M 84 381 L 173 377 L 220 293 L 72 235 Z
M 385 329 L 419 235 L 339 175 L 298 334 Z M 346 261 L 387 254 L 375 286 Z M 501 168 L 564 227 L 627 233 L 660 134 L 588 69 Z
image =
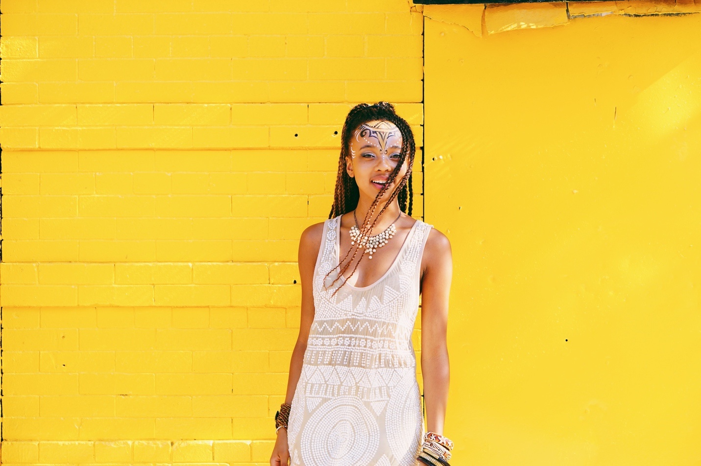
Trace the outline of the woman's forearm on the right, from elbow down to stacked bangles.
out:
M 448 404 L 450 367 L 447 350 L 433 357 L 421 355 L 423 400 L 426 404 L 426 430 L 443 434 Z

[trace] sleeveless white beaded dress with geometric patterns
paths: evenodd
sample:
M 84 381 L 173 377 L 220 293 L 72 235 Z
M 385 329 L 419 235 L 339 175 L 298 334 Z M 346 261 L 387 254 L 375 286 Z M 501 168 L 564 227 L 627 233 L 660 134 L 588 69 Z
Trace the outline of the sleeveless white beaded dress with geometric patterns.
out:
M 339 288 L 341 277 L 325 289 L 329 270 L 326 285 L 339 272 L 340 226 L 340 216 L 324 222 L 314 268 L 314 321 L 288 421 L 290 464 L 415 466 L 423 414 L 411 332 L 432 225 L 417 220 L 372 285 Z

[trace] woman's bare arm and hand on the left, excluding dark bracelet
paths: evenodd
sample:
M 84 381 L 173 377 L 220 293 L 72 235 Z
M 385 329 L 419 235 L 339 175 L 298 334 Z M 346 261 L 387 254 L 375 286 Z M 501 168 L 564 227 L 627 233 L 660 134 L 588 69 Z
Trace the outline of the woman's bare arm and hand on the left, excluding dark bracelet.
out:
M 290 375 L 287 377 L 287 392 L 285 394 L 285 403 L 292 404 L 294 390 L 297 388 L 297 382 L 302 370 L 302 362 L 304 360 L 304 351 L 306 350 L 307 340 L 309 338 L 309 329 L 314 320 L 314 296 L 312 294 L 312 279 L 314 275 L 314 266 L 321 245 L 321 235 L 324 224 L 315 224 L 308 227 L 299 239 L 299 251 L 297 254 L 297 263 L 299 265 L 299 279 L 302 287 L 302 302 L 301 315 L 299 319 L 299 336 L 297 343 L 292 350 L 292 359 L 290 359 Z M 290 450 L 287 445 L 287 430 L 278 430 L 278 438 L 273 447 L 273 455 L 270 459 L 270 464 L 273 466 L 287 465 L 290 460 Z

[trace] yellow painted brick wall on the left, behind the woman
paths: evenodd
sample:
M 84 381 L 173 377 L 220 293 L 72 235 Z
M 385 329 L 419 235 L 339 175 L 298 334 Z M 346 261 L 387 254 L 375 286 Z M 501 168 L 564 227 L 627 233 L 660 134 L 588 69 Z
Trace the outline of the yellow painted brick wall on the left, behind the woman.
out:
M 418 10 L 1 1 L 5 465 L 267 464 L 343 118 L 422 144 Z

